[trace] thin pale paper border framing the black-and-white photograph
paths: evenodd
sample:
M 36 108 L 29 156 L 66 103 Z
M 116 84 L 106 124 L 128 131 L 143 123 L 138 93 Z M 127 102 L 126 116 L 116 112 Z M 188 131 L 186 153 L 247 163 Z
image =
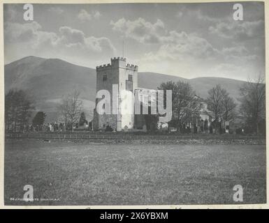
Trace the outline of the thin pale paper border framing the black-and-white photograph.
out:
M 50 3 L 50 4 L 59 4 L 59 3 L 224 3 L 224 2 L 235 2 L 235 3 L 240 3 L 240 2 L 247 2 L 247 1 L 254 1 L 254 0 L 245 0 L 245 1 L 231 1 L 231 0 L 215 0 L 215 1 L 206 1 L 206 0 L 200 0 L 200 1 L 191 1 L 191 0 L 185 0 L 185 1 L 166 1 L 166 0 L 147 0 L 147 1 L 139 1 L 139 0 L 125 0 L 125 1 L 112 1 L 112 0 L 53 0 L 53 3 L 48 0 L 0 0 L 1 1 L 1 10 L 0 10 L 0 26 L 1 26 L 1 35 L 0 35 L 0 41 L 1 41 L 1 52 L 2 54 L 0 55 L 0 69 L 1 69 L 1 81 L 0 81 L 0 90 L 1 90 L 1 99 L 0 99 L 0 208 L 2 209 L 66 209 L 66 208 L 72 208 L 72 209 L 85 209 L 85 208 L 90 208 L 90 209 L 259 209 L 259 208 L 269 208 L 268 205 L 268 132 L 269 132 L 269 126 L 266 125 L 266 202 L 267 203 L 261 203 L 261 204 L 210 204 L 210 205 L 196 205 L 196 204 L 191 204 L 191 205 L 136 205 L 136 206 L 129 206 L 129 205 L 124 205 L 124 206 L 5 206 L 4 205 L 4 184 L 3 184 L 3 176 L 4 176 L 4 52 L 3 52 L 3 4 L 4 3 Z M 264 1 L 257 1 L 257 2 L 263 2 L 264 3 L 264 21 L 265 21 L 265 41 L 266 41 L 266 59 L 268 59 L 268 43 L 269 43 L 269 38 L 268 38 L 268 16 L 269 16 L 269 1 L 264 0 Z M 266 76 L 268 73 L 268 60 L 266 60 Z M 268 78 L 266 78 L 266 123 L 268 123 L 269 120 L 269 99 L 268 99 Z

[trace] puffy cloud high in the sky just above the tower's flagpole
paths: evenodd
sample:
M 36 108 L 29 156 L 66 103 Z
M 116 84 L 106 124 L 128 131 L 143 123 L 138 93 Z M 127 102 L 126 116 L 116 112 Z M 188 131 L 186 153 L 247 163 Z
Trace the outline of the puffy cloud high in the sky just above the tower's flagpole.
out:
M 112 29 L 124 34 L 127 38 L 133 38 L 140 43 L 159 43 L 161 36 L 166 34 L 166 29 L 161 20 L 155 23 L 147 22 L 139 17 L 137 20 L 111 21 Z

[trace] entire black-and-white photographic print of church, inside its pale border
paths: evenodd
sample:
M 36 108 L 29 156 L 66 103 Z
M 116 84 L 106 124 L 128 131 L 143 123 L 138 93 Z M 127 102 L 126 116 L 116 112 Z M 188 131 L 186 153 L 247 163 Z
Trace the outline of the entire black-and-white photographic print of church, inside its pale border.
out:
M 264 10 L 4 3 L 5 206 L 266 203 Z

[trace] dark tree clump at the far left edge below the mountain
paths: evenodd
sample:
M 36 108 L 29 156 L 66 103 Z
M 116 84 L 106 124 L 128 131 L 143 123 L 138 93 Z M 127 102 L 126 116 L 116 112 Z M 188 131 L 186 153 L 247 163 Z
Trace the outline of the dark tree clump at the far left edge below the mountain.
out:
M 27 125 L 34 109 L 33 100 L 22 90 L 11 89 L 5 96 L 6 130 L 16 132 Z

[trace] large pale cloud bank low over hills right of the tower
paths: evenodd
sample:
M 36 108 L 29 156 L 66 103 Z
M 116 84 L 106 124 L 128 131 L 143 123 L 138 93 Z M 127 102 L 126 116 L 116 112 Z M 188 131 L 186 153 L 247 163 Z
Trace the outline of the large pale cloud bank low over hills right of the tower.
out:
M 259 62 L 259 55 L 249 52 L 245 45 L 216 48 L 197 33 L 170 31 L 159 39 L 159 48 L 140 58 L 142 70 L 188 77 L 240 77 L 254 72 Z

